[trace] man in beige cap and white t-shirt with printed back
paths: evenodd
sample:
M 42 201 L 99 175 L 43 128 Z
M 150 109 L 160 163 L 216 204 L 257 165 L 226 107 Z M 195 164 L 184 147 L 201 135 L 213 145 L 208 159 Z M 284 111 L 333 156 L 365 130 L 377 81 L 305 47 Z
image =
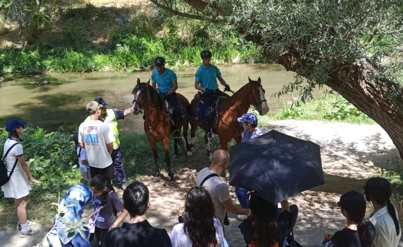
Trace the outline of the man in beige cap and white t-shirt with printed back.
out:
M 80 124 L 78 142 L 85 148 L 89 170 L 94 177 L 98 174 L 114 178 L 114 166 L 110 154 L 114 149 L 114 133 L 106 123 L 99 121 L 102 104 L 91 101 L 86 105 L 89 120 Z

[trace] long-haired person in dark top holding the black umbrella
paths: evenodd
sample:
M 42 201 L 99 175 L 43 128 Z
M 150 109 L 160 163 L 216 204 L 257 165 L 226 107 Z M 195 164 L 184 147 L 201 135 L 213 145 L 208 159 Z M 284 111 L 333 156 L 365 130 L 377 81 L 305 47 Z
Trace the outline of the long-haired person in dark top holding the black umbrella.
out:
M 250 247 L 285 247 L 287 238 L 297 221 L 298 207 L 289 206 L 288 200 L 281 201 L 281 213 L 277 213 L 277 204 L 266 201 L 256 193 L 251 193 L 248 220 L 239 224 L 243 239 Z M 294 239 L 288 243 L 299 246 Z

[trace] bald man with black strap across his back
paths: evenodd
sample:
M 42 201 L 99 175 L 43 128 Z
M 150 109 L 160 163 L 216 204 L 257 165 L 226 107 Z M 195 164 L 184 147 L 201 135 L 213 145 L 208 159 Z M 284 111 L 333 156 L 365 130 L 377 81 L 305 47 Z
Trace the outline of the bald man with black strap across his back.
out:
M 224 149 L 218 149 L 213 153 L 210 167 L 203 168 L 197 173 L 197 186 L 206 187 L 213 200 L 215 217 L 224 223 L 227 210 L 233 214 L 248 215 L 249 209 L 241 208 L 232 202 L 230 190 L 220 174 L 225 171 L 230 161 L 230 154 Z

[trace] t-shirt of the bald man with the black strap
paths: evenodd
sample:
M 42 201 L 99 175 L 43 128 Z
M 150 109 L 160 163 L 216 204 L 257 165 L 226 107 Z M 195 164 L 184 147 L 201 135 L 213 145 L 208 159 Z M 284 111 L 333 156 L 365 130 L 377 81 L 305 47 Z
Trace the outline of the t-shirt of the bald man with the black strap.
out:
M 208 167 L 200 170 L 196 176 L 196 184 L 199 186 L 203 179 L 212 173 L 215 172 L 210 171 Z M 207 179 L 203 186 L 206 187 L 213 200 L 215 217 L 219 218 L 223 225 L 227 210 L 221 203 L 231 198 L 227 183 L 221 177 L 213 176 Z

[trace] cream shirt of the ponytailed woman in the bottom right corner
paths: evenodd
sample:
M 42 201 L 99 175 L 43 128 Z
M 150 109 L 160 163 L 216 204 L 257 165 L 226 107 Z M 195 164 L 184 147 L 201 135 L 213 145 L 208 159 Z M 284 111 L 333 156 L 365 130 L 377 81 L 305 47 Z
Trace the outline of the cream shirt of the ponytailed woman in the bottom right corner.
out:
M 397 211 L 396 217 L 399 219 Z M 401 236 L 401 229 L 397 235 L 393 219 L 388 213 L 388 206 L 379 209 L 369 220 L 375 227 L 375 239 L 372 242 L 372 247 L 397 247 Z

